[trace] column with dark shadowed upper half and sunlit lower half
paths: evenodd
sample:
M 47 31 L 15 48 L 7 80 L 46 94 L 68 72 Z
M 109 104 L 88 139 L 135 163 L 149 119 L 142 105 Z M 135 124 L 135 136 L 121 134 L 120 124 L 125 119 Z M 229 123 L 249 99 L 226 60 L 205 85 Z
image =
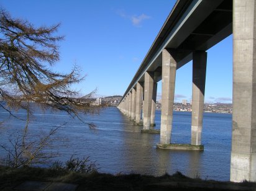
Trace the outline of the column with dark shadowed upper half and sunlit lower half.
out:
M 191 144 L 201 145 L 207 53 L 193 52 Z

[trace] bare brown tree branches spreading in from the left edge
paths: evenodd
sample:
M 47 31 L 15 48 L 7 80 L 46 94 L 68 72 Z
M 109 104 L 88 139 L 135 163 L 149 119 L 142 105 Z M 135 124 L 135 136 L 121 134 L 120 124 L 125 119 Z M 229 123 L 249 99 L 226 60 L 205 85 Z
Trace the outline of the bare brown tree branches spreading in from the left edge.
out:
M 48 68 L 60 60 L 58 42 L 63 36 L 56 35 L 59 26 L 34 27 L 0 10 L 0 95 L 9 109 L 0 107 L 12 113 L 12 109 L 29 110 L 25 102 L 35 102 L 42 109 L 63 110 L 81 121 L 81 113 L 98 112 L 99 106 L 91 101 L 94 92 L 78 97 L 70 89 L 85 78 L 78 66 L 68 74 Z

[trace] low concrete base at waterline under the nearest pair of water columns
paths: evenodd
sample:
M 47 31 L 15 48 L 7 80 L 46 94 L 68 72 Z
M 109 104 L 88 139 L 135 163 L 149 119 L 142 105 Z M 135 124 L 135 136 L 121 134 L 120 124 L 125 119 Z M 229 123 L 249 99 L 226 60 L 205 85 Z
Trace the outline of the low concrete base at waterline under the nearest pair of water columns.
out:
M 171 150 L 186 150 L 186 151 L 203 151 L 203 145 L 192 145 L 192 144 L 157 144 L 158 149 L 171 149 Z

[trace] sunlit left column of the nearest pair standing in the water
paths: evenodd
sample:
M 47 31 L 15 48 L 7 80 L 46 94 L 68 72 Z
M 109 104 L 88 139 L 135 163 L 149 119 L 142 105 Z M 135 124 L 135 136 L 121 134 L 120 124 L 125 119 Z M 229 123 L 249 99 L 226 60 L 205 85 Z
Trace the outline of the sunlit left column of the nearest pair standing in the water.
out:
M 176 61 L 169 51 L 162 51 L 162 112 L 160 144 L 171 143 Z

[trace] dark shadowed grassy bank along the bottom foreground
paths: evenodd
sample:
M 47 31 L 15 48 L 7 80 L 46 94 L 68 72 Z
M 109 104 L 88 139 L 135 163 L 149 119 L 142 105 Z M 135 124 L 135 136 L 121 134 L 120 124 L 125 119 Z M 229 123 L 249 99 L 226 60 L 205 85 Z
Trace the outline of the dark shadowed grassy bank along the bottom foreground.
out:
M 140 174 L 101 174 L 58 171 L 37 167 L 0 167 L 0 190 L 13 190 L 22 182 L 65 182 L 78 184 L 76 190 L 254 190 L 256 184 L 234 184 L 214 180 L 190 179 L 180 172 L 153 177 Z

